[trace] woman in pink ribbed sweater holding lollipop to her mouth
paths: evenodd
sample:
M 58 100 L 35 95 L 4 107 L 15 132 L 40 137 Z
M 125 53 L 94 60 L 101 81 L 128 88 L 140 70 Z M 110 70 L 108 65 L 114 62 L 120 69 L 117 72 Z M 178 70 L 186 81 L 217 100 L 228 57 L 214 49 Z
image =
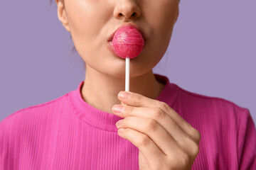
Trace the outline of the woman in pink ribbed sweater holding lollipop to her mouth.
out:
M 193 94 L 152 72 L 171 40 L 178 0 L 56 0 L 86 64 L 78 89 L 21 109 L 0 124 L 1 169 L 256 169 L 247 108 Z M 118 28 L 142 30 L 130 64 L 109 45 Z M 122 104 L 119 104 L 122 103 Z

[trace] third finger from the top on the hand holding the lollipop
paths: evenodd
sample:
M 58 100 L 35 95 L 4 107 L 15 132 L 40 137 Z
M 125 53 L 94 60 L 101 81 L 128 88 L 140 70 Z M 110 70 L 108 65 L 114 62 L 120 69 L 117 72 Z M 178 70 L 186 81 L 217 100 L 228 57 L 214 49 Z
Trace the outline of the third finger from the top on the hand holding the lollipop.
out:
M 174 137 L 166 131 L 156 120 L 129 116 L 117 122 L 117 128 L 130 128 L 142 132 L 155 142 L 166 155 L 173 155 L 181 149 Z

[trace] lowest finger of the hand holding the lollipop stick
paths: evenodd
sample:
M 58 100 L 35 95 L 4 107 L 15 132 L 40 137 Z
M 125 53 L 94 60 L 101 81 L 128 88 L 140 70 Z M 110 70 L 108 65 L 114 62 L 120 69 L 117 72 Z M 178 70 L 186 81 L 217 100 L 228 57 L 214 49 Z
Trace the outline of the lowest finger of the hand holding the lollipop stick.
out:
M 166 160 L 165 154 L 147 135 L 130 128 L 122 128 L 117 132 L 120 137 L 132 142 L 142 152 L 151 168 L 161 167 L 161 164 Z

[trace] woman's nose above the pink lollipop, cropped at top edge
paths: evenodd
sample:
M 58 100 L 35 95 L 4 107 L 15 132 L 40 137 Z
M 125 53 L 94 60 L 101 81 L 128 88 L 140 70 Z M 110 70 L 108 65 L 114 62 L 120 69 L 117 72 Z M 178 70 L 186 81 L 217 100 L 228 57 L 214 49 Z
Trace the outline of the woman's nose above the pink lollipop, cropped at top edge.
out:
M 114 17 L 129 21 L 139 18 L 141 10 L 136 0 L 117 0 L 114 6 Z

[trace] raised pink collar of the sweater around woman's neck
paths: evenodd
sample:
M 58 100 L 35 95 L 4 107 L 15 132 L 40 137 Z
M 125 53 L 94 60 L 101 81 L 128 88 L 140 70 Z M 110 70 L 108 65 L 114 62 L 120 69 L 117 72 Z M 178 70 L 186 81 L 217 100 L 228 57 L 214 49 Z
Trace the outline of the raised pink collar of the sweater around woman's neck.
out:
M 164 101 L 165 103 L 169 104 L 169 106 L 173 106 L 174 101 L 176 100 L 178 86 L 176 84 L 171 84 L 169 79 L 165 76 L 159 74 L 154 75 L 157 81 L 165 84 L 164 89 L 162 89 L 156 100 Z M 84 101 L 81 95 L 81 88 L 83 84 L 84 81 L 81 81 L 78 85 L 78 89 L 70 91 L 70 93 L 68 94 L 68 101 L 74 111 L 73 113 L 75 114 L 75 116 L 95 128 L 111 132 L 117 132 L 117 127 L 115 123 L 117 123 L 117 121 L 122 118 L 112 113 L 107 113 L 97 108 L 94 108 L 90 106 L 90 104 L 88 104 L 86 101 Z

